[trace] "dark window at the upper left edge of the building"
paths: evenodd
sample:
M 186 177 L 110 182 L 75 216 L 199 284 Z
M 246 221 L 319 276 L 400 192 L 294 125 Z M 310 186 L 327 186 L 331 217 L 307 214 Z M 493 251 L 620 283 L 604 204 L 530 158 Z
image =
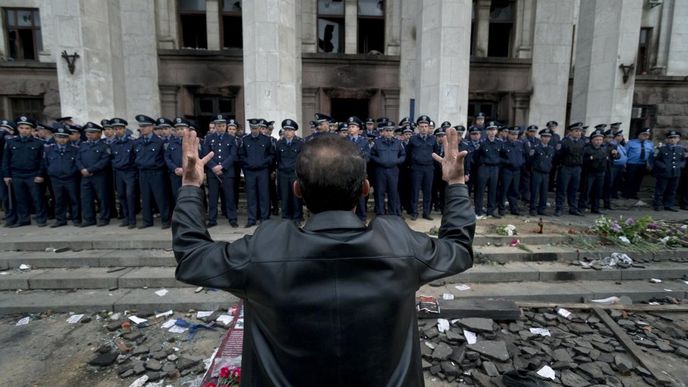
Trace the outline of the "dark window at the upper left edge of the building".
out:
M 12 60 L 38 60 L 43 49 L 41 18 L 35 8 L 5 8 L 7 57 Z

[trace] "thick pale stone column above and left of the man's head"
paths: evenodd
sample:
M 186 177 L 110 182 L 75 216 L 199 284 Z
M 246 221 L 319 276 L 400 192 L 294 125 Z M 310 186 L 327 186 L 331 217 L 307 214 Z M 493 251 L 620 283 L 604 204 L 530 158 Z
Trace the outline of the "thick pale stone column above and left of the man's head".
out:
M 301 119 L 297 0 L 243 2 L 244 114 L 279 123 Z M 277 133 L 277 131 L 275 131 Z

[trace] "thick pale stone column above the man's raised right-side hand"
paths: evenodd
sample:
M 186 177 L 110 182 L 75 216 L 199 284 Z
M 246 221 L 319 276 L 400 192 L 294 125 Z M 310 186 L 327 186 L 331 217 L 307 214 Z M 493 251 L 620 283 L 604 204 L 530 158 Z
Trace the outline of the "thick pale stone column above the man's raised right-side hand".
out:
M 465 125 L 472 2 L 424 0 L 418 6 L 416 112 L 436 123 Z

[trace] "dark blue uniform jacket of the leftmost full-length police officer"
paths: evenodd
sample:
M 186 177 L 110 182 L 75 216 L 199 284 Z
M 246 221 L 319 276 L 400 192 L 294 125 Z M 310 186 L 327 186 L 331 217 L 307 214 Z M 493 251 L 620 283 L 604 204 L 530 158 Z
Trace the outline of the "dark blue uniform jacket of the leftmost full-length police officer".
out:
M 5 143 L 2 155 L 4 177 L 45 176 L 43 152 L 45 143 L 34 137 L 14 137 Z

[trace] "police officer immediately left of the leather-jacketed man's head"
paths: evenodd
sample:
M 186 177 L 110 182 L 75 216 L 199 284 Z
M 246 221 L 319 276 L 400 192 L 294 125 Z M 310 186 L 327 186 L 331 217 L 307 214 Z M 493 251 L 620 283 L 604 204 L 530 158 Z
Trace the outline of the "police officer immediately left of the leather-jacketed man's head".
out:
M 296 181 L 296 157 L 301 153 L 304 141 L 296 136 L 299 124 L 292 119 L 282 121 L 283 137 L 277 141 L 275 159 L 277 164 L 277 188 L 282 202 L 282 219 L 300 225 L 303 220 L 302 200 L 294 195 Z

